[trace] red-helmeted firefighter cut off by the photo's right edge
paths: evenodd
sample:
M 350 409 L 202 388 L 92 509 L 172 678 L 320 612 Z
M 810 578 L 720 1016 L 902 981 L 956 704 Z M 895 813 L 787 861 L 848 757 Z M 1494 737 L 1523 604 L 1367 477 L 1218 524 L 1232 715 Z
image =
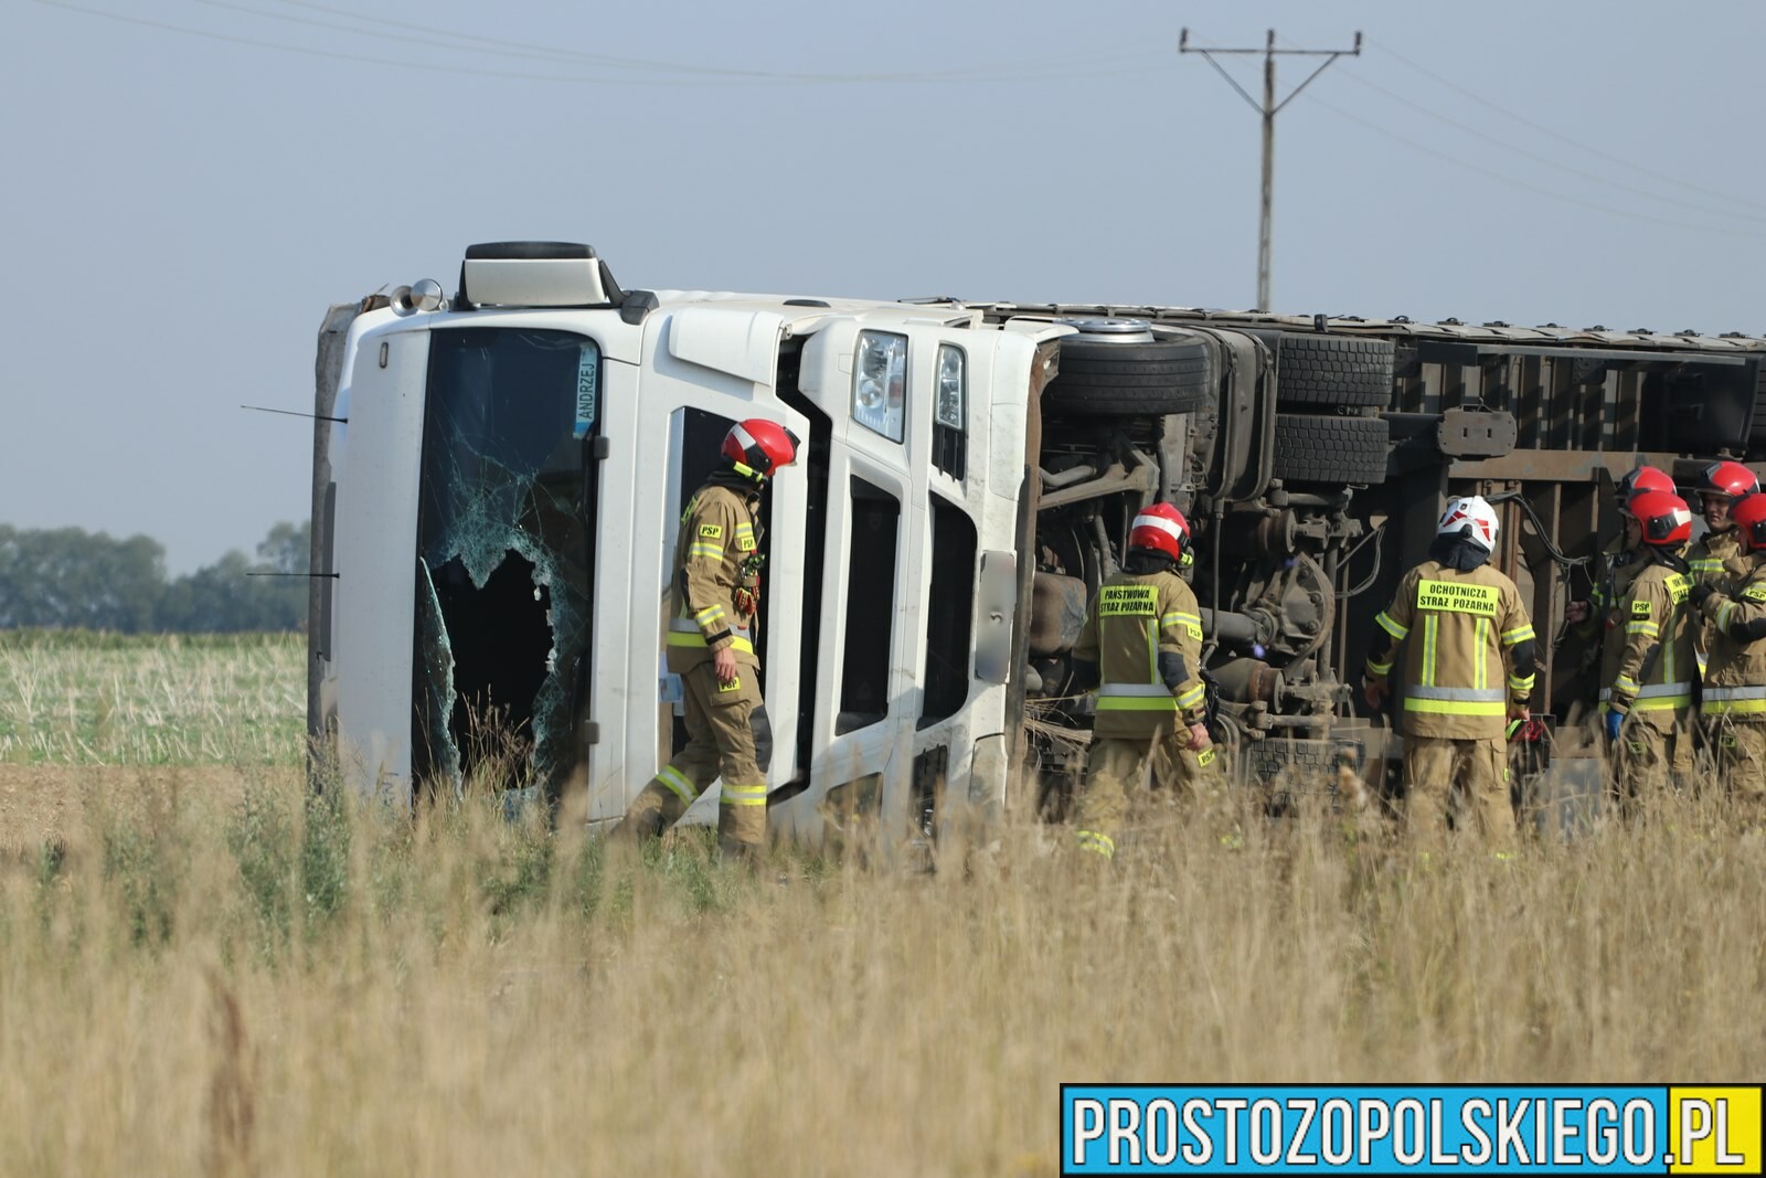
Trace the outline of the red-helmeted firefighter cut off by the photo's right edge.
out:
M 1701 581 L 1690 593 L 1711 641 L 1699 722 L 1729 795 L 1759 821 L 1766 805 L 1766 495 L 1736 500 L 1731 514 L 1743 547 L 1740 574 L 1727 586 Z

